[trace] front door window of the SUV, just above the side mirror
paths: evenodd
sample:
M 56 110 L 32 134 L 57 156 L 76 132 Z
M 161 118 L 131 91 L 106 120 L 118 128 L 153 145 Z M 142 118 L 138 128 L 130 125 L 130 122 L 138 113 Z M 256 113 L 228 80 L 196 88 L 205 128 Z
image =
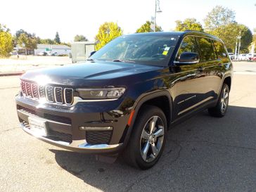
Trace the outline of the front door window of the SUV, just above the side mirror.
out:
M 193 52 L 198 53 L 198 55 L 200 55 L 198 50 L 198 44 L 196 43 L 195 37 L 189 36 L 183 39 L 175 60 L 179 60 L 179 56 L 181 56 L 181 53 L 183 52 Z

